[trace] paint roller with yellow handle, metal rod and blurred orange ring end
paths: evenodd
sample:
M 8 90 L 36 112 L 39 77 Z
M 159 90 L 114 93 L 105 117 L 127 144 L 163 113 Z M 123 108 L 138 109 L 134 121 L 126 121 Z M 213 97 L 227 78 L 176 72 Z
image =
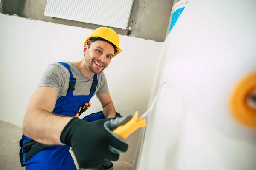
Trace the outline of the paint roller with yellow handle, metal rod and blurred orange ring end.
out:
M 138 111 L 136 111 L 134 117 L 129 122 L 116 128 L 113 133 L 125 139 L 138 128 L 145 127 L 145 117 L 151 113 L 165 83 L 166 81 L 160 86 L 148 111 L 139 118 Z M 230 111 L 241 124 L 256 127 L 256 72 L 244 77 L 244 79 L 236 85 L 230 98 Z

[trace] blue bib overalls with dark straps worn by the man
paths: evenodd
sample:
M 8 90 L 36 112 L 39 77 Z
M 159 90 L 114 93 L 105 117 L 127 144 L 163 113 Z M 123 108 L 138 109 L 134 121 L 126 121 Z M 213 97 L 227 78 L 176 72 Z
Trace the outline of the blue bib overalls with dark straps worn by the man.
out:
M 97 74 L 93 76 L 90 94 L 87 96 L 74 96 L 76 78 L 67 63 L 64 65 L 70 74 L 70 85 L 66 96 L 57 99 L 54 110 L 55 114 L 64 116 L 75 116 L 78 109 L 85 103 L 89 103 L 98 85 Z M 118 113 L 119 114 L 119 113 Z M 83 118 L 85 121 L 93 122 L 105 119 L 102 111 L 90 114 Z M 83 133 L 83 132 L 81 132 Z M 24 134 L 20 140 L 20 163 L 26 166 L 26 170 L 76 170 L 73 158 L 69 152 L 70 147 L 66 145 L 45 145 L 35 142 Z

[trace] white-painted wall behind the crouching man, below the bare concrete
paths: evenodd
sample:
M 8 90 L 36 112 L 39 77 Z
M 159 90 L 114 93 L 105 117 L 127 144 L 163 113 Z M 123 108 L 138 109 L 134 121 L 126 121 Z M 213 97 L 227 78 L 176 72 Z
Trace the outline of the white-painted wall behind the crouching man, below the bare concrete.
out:
M 83 59 L 83 44 L 92 30 L 0 14 L 0 119 L 22 126 L 26 108 L 41 73 L 52 62 Z M 120 36 L 122 53 L 105 75 L 116 111 L 123 116 L 146 111 L 162 43 Z M 93 97 L 83 113 L 102 111 Z M 140 130 L 128 137 L 120 159 L 132 162 Z

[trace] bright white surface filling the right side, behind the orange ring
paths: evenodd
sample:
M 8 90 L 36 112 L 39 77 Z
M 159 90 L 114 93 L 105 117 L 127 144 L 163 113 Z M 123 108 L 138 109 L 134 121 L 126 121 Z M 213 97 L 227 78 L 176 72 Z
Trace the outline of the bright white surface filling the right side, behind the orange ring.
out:
M 255 6 L 254 0 L 188 3 L 163 44 L 149 105 L 167 83 L 148 116 L 134 170 L 255 169 L 256 129 L 229 109 L 235 85 L 256 71 Z

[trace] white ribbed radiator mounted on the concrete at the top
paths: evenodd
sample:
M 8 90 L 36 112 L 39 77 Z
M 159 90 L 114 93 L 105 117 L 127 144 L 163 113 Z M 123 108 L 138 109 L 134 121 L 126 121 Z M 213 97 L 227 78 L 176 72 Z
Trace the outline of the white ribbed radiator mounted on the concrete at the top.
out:
M 126 29 L 134 0 L 47 0 L 44 15 Z

